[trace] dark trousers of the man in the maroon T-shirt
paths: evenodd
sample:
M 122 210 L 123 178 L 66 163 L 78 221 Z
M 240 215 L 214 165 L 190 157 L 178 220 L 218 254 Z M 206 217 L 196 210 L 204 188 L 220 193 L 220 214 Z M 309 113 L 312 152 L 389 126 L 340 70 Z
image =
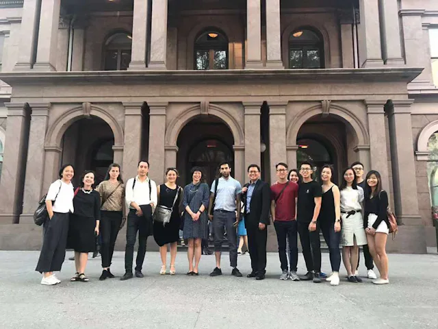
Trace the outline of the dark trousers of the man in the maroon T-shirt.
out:
M 289 240 L 290 270 L 296 271 L 298 264 L 298 234 L 296 221 L 274 221 L 276 240 L 279 243 L 281 271 L 289 270 L 287 266 L 286 241 Z

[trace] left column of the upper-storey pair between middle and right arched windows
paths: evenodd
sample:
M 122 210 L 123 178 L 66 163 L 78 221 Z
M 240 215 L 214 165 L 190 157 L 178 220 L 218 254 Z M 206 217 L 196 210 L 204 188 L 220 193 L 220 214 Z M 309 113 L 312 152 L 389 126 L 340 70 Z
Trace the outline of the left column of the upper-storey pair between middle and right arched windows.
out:
M 261 69 L 261 14 L 260 0 L 246 1 L 246 66 Z

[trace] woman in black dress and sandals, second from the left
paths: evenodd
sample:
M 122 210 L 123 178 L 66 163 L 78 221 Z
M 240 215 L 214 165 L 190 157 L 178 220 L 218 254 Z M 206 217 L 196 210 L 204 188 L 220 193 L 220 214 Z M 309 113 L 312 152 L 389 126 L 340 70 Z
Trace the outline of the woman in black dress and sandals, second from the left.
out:
M 85 276 L 88 253 L 96 248 L 96 236 L 99 235 L 101 219 L 101 196 L 94 191 L 94 172 L 85 171 L 81 177 L 81 186 L 75 191 L 73 206 L 75 212 L 70 216 L 68 226 L 67 249 L 75 250 L 76 273 L 71 281 L 88 282 Z

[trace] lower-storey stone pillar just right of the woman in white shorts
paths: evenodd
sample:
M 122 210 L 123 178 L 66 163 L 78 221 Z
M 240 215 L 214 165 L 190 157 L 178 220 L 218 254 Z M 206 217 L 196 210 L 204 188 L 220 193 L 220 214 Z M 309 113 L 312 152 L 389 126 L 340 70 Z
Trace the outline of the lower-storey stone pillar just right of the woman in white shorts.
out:
M 422 219 L 418 212 L 417 181 L 415 180 L 412 103 L 412 100 L 393 101 L 394 106 L 388 106 L 387 114 L 396 215 L 405 225 L 420 226 Z M 382 140 L 379 143 L 383 145 Z

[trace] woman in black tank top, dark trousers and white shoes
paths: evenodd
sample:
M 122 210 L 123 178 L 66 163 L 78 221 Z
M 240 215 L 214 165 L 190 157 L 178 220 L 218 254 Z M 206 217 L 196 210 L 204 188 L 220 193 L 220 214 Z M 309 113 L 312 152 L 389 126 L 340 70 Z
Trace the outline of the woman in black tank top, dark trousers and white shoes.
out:
M 324 165 L 321 171 L 322 201 L 321 211 L 318 218 L 324 240 L 329 246 L 331 276 L 326 278 L 332 286 L 339 284 L 339 267 L 341 266 L 341 252 L 339 240 L 341 239 L 341 193 L 339 188 L 331 182 L 333 167 Z

